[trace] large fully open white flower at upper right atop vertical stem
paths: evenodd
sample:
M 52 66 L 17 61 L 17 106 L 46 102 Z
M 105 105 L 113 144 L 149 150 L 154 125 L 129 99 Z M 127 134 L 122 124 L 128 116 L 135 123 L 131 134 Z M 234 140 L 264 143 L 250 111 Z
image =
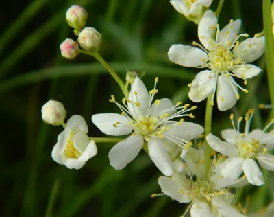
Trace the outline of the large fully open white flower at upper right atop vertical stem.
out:
M 232 108 L 239 99 L 238 88 L 247 93 L 234 80 L 242 78 L 247 84 L 247 78 L 257 76 L 259 67 L 249 64 L 264 53 L 264 37 L 247 38 L 239 43 L 238 35 L 241 21 L 231 20 L 223 30 L 219 30 L 215 14 L 208 10 L 198 26 L 198 36 L 202 45 L 198 47 L 172 45 L 169 49 L 169 59 L 184 67 L 208 68 L 195 76 L 188 93 L 190 100 L 201 102 L 217 91 L 217 104 L 221 111 Z M 216 36 L 214 36 L 216 32 Z M 214 103 L 214 95 L 211 104 Z

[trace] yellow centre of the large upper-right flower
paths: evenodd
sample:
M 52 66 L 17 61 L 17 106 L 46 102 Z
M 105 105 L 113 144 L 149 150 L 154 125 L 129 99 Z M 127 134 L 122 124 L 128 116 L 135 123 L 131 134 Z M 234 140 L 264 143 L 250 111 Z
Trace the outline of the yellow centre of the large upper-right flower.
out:
M 236 63 L 230 49 L 221 44 L 212 43 L 208 57 L 210 68 L 219 73 L 231 70 Z

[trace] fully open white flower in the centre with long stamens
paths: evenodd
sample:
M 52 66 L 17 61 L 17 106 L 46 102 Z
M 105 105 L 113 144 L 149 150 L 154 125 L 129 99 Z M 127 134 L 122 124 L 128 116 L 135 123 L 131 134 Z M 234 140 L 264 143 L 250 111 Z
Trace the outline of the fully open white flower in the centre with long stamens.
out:
M 179 122 L 172 120 L 175 117 L 193 117 L 185 113 L 196 106 L 187 109 L 189 105 L 180 106 L 182 102 L 173 106 L 167 98 L 155 100 L 152 104 L 155 93 L 158 93 L 155 89 L 157 82 L 158 78 L 155 79 L 154 89 L 148 92 L 142 80 L 135 78 L 129 98 L 122 100 L 123 105 L 116 102 L 113 95 L 110 100 L 119 106 L 121 115 L 103 113 L 92 116 L 92 122 L 107 135 L 127 135 L 134 130 L 132 135 L 110 150 L 110 165 L 116 170 L 125 168 L 138 155 L 144 142 L 147 142 L 152 161 L 163 174 L 170 176 L 173 167 L 171 157 L 164 147 L 165 139 L 184 147 L 190 146 L 188 141 L 203 133 L 203 127 L 198 124 L 183 122 L 184 119 Z

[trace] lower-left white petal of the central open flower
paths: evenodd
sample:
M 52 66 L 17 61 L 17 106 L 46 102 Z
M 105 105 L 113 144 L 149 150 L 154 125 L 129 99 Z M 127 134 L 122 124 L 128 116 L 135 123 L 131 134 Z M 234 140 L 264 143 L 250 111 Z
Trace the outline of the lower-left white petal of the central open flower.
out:
M 142 149 L 144 143 L 142 137 L 135 135 L 117 143 L 108 153 L 110 165 L 115 170 L 122 170 L 130 163 Z

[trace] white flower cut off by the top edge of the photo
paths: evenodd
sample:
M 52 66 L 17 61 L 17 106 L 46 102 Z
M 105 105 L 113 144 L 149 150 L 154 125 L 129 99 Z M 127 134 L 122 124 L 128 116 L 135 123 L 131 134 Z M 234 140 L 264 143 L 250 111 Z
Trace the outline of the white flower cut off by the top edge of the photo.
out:
M 170 2 L 177 12 L 198 24 L 203 13 L 210 7 L 212 0 L 171 0 Z

